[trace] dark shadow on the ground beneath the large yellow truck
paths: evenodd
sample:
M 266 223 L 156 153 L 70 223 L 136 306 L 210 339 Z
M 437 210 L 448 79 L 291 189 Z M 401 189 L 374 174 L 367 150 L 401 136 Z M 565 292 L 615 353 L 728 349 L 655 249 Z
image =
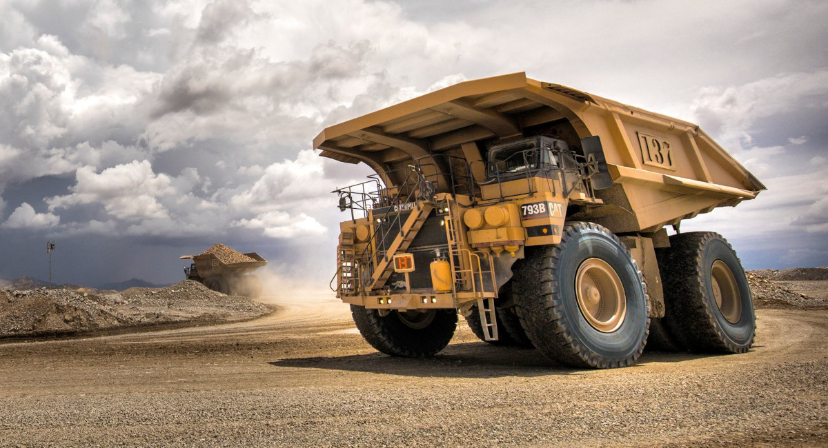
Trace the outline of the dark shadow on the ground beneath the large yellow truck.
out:
M 627 369 L 637 369 L 651 363 L 681 362 L 710 356 L 716 355 L 645 351 L 638 358 L 638 362 Z M 483 342 L 452 344 L 432 358 L 400 358 L 373 352 L 365 355 L 289 358 L 268 364 L 274 367 L 344 370 L 419 378 L 536 377 L 598 371 L 556 364 L 537 350 L 491 346 Z

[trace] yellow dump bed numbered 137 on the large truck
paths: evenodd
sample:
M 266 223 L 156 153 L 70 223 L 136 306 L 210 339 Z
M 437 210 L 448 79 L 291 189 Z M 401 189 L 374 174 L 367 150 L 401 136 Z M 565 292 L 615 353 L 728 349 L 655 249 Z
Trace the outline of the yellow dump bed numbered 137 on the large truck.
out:
M 412 158 L 437 154 L 465 160 L 479 184 L 489 145 L 537 135 L 581 153 L 580 139 L 600 137 L 613 185 L 595 192 L 603 206 L 575 218 L 615 232 L 657 231 L 765 189 L 693 123 L 524 73 L 459 83 L 327 127 L 314 146 L 324 157 L 368 164 L 389 188 L 405 183 L 394 172 Z

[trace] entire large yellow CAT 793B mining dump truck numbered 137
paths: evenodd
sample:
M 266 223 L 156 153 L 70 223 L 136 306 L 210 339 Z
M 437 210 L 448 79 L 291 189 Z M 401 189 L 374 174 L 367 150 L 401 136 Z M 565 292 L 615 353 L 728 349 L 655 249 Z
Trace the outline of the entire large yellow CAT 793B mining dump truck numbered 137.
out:
M 630 365 L 648 339 L 753 344 L 734 250 L 680 225 L 764 187 L 699 126 L 518 73 L 327 127 L 314 146 L 376 172 L 335 191 L 349 217 L 331 284 L 383 353 L 435 355 L 458 313 L 481 340 L 576 367 Z

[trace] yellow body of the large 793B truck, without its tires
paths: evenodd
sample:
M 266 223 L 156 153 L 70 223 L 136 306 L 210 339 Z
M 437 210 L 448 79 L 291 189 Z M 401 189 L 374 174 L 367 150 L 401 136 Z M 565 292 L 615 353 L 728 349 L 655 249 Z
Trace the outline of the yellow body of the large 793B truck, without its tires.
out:
M 329 126 L 313 143 L 323 157 L 376 172 L 337 190 L 350 212 L 340 224 L 338 297 L 409 320 L 477 307 L 487 341 L 498 339 L 493 303 L 512 307 L 502 296 L 515 261 L 561 244 L 567 223 L 594 223 L 626 246 L 646 282 L 647 314 L 659 318 L 666 226 L 679 230 L 764 189 L 691 122 L 523 73 L 426 93 Z M 416 269 L 398 269 L 403 259 Z M 450 266 L 442 283 L 430 272 L 439 261 Z

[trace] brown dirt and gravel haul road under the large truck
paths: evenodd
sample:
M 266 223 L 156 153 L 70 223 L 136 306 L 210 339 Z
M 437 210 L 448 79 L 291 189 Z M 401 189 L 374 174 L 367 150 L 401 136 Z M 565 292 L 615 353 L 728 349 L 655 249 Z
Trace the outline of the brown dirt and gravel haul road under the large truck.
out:
M 578 370 L 465 324 L 434 359 L 391 358 L 334 298 L 278 304 L 251 322 L 0 344 L 0 444 L 828 445 L 825 309 L 759 310 L 744 355 Z

